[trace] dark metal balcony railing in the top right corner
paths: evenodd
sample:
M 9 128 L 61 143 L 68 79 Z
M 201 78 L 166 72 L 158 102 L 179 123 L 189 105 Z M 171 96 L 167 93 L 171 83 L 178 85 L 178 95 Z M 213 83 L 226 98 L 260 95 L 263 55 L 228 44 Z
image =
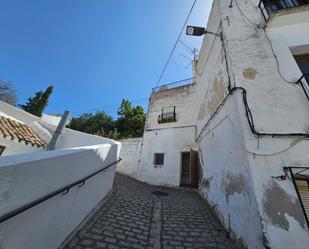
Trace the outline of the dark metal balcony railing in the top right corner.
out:
M 302 5 L 308 5 L 309 0 L 261 0 L 259 8 L 262 11 L 265 21 L 277 10 L 290 9 Z

